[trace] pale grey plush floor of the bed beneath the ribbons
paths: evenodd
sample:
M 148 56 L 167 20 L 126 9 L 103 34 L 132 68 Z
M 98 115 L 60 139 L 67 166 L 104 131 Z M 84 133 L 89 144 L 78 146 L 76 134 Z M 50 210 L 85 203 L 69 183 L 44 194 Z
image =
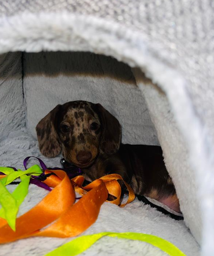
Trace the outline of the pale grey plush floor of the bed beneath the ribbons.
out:
M 26 133 L 25 130 L 19 133 L 10 134 L 0 147 L 5 148 L 5 153 L 0 154 L 2 165 L 8 162 L 12 166 L 22 168 L 22 161 L 25 156 L 39 156 L 47 164 L 48 167 L 59 166 L 60 157 L 55 159 L 47 159 L 41 156 L 38 150 L 38 142 Z M 28 166 L 38 164 L 33 159 L 29 161 Z M 10 191 L 14 189 L 14 185 L 7 186 Z M 44 189 L 30 185 L 30 192 L 22 204 L 19 215 L 26 212 L 35 204 L 37 204 L 48 192 Z M 39 216 L 42 218 L 42 216 Z M 162 237 L 181 249 L 187 256 L 199 256 L 199 246 L 185 225 L 184 221 L 175 221 L 166 215 L 145 206 L 142 202 L 135 199 L 132 204 L 124 208 L 119 208 L 113 204 L 105 202 L 101 207 L 98 220 L 84 234 L 95 234 L 98 232 L 140 232 L 145 234 L 153 234 Z M 11 256 L 43 256 L 52 251 L 61 244 L 72 240 L 72 238 L 27 238 L 15 241 L 13 243 L 2 244 L 0 246 L 0 255 Z M 164 256 L 164 252 L 155 247 L 139 241 L 119 240 L 113 238 L 103 238 L 93 245 L 82 255 L 157 255 Z

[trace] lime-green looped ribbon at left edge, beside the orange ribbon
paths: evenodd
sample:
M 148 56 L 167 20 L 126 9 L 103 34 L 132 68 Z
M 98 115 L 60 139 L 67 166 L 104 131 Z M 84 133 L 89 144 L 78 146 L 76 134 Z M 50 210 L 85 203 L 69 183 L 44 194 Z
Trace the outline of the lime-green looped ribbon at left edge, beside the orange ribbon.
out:
M 30 182 L 30 176 L 28 175 L 40 175 L 42 173 L 39 165 L 33 165 L 26 171 L 15 171 L 13 168 L 0 167 L 0 171 L 4 173 L 4 178 L 0 179 L 0 217 L 7 220 L 8 225 L 15 231 L 16 230 L 16 215 L 19 210 L 19 206 L 24 201 L 25 196 L 28 193 L 28 186 Z M 16 189 L 10 193 L 5 185 L 10 184 L 16 178 L 21 179 L 21 182 Z

